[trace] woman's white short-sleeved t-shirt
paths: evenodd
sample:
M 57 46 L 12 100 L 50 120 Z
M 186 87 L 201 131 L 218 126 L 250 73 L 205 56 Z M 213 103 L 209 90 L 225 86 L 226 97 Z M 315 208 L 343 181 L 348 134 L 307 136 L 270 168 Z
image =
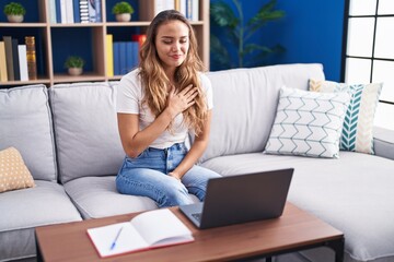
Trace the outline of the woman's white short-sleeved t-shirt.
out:
M 143 130 L 154 121 L 154 116 L 148 105 L 142 105 L 144 90 L 142 88 L 138 72 L 139 69 L 135 69 L 121 78 L 117 86 L 116 108 L 117 112 L 139 115 L 139 130 Z M 205 74 L 200 73 L 199 78 L 202 91 L 206 93 L 208 109 L 212 109 L 212 85 Z M 187 132 L 188 129 L 183 123 L 183 115 L 178 114 L 173 120 L 171 133 L 165 130 L 150 146 L 166 148 L 175 143 L 182 143 L 186 140 Z

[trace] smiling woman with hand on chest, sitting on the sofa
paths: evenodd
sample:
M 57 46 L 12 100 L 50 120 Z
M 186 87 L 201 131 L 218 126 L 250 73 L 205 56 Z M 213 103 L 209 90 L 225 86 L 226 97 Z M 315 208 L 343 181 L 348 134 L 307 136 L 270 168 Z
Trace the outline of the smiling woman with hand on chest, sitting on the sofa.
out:
M 209 140 L 212 91 L 188 21 L 177 11 L 159 13 L 147 31 L 140 66 L 118 86 L 117 116 L 125 162 L 120 193 L 143 195 L 159 207 L 204 201 L 218 174 L 196 166 Z M 195 140 L 187 151 L 188 130 Z

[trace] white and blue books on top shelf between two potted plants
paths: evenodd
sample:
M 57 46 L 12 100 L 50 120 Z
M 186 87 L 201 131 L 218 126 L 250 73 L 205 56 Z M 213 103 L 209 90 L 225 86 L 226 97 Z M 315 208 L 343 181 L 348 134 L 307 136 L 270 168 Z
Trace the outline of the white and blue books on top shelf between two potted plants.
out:
M 50 23 L 102 22 L 101 0 L 48 0 Z

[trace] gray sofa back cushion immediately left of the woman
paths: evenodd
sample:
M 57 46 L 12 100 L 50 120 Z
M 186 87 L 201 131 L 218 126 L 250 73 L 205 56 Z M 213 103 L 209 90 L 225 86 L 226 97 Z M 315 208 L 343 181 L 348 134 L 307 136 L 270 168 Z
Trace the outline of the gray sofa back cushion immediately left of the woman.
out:
M 108 83 L 49 88 L 61 182 L 117 174 L 125 153 L 117 130 L 116 87 Z

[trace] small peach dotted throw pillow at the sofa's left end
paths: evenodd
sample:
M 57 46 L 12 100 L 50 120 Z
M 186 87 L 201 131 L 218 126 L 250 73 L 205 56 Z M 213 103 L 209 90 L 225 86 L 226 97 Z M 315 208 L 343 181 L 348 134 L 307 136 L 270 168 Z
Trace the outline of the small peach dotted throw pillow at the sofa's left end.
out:
M 34 180 L 15 147 L 0 151 L 0 193 L 34 187 Z

